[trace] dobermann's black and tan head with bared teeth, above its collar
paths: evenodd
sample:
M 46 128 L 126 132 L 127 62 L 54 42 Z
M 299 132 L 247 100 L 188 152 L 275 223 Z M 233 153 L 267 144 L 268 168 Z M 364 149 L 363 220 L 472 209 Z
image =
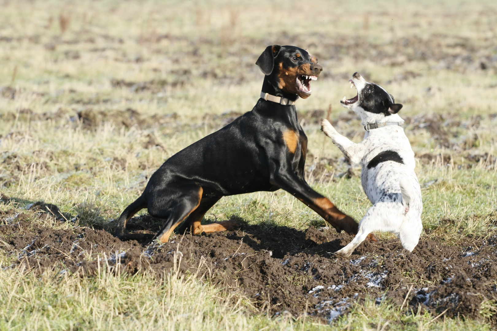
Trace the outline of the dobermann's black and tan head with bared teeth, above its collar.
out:
M 311 95 L 311 80 L 318 79 L 323 67 L 308 51 L 295 46 L 267 46 L 255 63 L 266 75 L 262 92 L 292 101 Z

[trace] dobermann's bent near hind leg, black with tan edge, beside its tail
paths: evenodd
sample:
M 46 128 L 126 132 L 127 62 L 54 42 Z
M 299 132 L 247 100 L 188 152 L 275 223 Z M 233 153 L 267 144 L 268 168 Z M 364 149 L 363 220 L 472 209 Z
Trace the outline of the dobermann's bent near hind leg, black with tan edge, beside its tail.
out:
M 165 225 L 157 235 L 157 239 L 163 243 L 169 240 L 169 237 L 179 224 L 187 218 L 200 204 L 202 199 L 202 188 L 195 185 L 193 188 L 185 190 L 182 187 L 180 195 L 176 196 L 172 201 L 168 201 L 167 205 L 160 205 L 160 202 L 149 205 L 149 213 L 157 218 L 165 219 Z M 160 198 L 159 198 L 160 199 Z

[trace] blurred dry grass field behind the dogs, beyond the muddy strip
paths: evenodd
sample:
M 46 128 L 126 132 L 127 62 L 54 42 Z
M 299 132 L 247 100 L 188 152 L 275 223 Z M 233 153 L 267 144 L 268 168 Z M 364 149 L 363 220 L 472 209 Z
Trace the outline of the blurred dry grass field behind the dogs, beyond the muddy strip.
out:
M 497 207 L 496 40 L 490 0 L 2 0 L 0 208 L 38 200 L 72 216 L 89 208 L 82 224 L 112 229 L 169 156 L 251 110 L 263 79 L 255 61 L 280 44 L 309 49 L 324 67 L 313 95 L 297 102 L 309 137 L 306 178 L 317 191 L 356 219 L 370 205 L 360 169 L 318 125 L 328 117 L 361 140 L 360 121 L 339 104 L 355 95 L 347 81 L 359 71 L 404 105 L 423 236 L 488 236 Z M 206 218 L 233 214 L 324 225 L 282 191 L 225 197 Z M 255 323 L 233 316 L 230 328 Z

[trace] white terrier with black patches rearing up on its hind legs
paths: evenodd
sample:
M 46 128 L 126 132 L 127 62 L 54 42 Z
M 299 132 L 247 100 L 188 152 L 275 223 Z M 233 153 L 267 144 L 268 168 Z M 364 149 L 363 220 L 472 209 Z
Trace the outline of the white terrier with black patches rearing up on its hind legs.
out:
M 349 257 L 373 231 L 395 233 L 409 251 L 416 247 L 423 225 L 421 188 L 414 173 L 414 152 L 397 114 L 402 108 L 392 95 L 377 84 L 368 83 L 356 72 L 350 82 L 357 96 L 340 101 L 362 119 L 364 140 L 354 143 L 336 132 L 327 120 L 321 128 L 353 164 L 361 164 L 361 183 L 373 206 L 359 223 L 354 239 L 335 254 Z M 352 86 L 351 86 L 352 87 Z

